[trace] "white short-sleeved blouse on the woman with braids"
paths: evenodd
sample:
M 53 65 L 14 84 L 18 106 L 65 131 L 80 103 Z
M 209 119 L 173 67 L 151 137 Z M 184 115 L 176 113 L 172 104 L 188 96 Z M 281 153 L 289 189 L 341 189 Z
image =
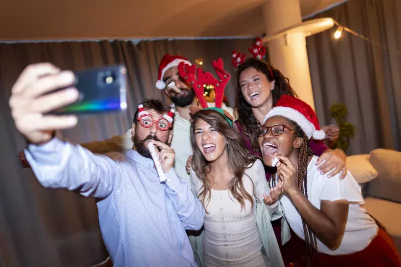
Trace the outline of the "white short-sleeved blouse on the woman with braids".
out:
M 363 207 L 363 200 L 359 184 L 348 171 L 343 180 L 339 174 L 331 178 L 327 174 L 321 175 L 317 170 L 314 156 L 308 165 L 308 199 L 316 208 L 320 209 L 321 200 L 347 200 L 349 202 L 348 219 L 344 236 L 340 246 L 332 251 L 317 239 L 317 250 L 322 253 L 339 255 L 363 250 L 377 234 L 377 225 Z M 298 213 L 287 195 L 280 199 L 284 208 L 285 217 L 293 231 L 305 240 L 301 215 Z

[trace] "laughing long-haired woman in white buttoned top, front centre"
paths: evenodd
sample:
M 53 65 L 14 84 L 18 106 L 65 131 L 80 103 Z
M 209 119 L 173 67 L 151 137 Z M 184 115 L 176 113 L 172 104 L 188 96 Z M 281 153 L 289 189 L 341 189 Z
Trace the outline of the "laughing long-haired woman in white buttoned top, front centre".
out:
M 207 212 L 203 264 L 266 266 L 255 212 L 257 202 L 263 203 L 265 196 L 269 203 L 270 197 L 265 194 L 270 188 L 263 163 L 249 155 L 240 134 L 223 112 L 203 109 L 192 117 L 190 176 L 194 192 Z M 277 242 L 273 231 L 272 235 L 269 242 Z

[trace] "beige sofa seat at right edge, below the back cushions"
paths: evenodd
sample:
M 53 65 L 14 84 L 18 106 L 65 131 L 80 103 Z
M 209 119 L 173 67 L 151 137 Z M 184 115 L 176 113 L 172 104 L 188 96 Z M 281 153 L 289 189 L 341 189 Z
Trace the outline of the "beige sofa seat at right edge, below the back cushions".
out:
M 394 239 L 398 252 L 401 254 L 401 204 L 374 197 L 365 198 L 367 212 L 378 220 Z

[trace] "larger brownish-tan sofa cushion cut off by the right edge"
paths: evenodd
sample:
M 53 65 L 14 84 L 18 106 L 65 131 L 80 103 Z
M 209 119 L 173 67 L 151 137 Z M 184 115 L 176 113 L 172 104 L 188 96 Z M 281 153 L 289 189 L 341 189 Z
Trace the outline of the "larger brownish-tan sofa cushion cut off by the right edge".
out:
M 375 149 L 369 160 L 378 176 L 368 183 L 367 194 L 401 202 L 401 152 Z

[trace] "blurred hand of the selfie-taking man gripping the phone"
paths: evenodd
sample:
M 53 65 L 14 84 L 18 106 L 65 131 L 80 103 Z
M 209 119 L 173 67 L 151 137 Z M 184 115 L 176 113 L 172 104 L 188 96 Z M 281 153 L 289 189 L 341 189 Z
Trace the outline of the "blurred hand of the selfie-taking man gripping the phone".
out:
M 72 128 L 77 124 L 76 116 L 45 115 L 78 100 L 78 91 L 67 88 L 75 76 L 70 71 L 61 71 L 50 63 L 28 66 L 12 88 L 9 101 L 17 129 L 30 142 L 46 143 L 52 132 Z

